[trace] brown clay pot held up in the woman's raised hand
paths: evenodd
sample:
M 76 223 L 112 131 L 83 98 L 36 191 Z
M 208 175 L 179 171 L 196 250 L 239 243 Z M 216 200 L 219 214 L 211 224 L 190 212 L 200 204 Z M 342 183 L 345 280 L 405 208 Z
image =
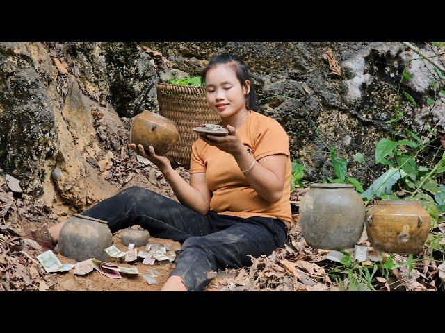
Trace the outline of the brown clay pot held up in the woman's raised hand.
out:
M 148 152 L 153 146 L 156 155 L 165 155 L 175 146 L 179 132 L 174 121 L 151 111 L 144 111 L 131 121 L 130 142 L 142 144 Z

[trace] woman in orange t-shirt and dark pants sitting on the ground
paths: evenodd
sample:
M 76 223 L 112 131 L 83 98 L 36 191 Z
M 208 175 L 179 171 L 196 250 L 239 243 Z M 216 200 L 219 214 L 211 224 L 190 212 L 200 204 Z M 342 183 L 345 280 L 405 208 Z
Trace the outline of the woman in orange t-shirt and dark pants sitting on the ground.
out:
M 202 80 L 229 135 L 201 135 L 193 143 L 190 184 L 153 147 L 147 155 L 128 145 L 156 164 L 180 203 L 129 187 L 81 213 L 107 221 L 111 232 L 138 224 L 154 237 L 181 242 L 163 291 L 201 291 L 209 271 L 250 266 L 248 255 L 284 247 L 292 221 L 289 138 L 280 123 L 256 111 L 249 69 L 223 54 L 209 62 Z M 52 242 L 62 225 L 49 228 Z

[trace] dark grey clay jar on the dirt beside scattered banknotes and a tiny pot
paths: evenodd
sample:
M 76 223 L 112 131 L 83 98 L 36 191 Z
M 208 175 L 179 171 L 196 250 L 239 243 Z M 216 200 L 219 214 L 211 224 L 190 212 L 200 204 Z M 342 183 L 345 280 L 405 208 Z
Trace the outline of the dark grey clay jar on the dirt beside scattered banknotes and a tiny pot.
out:
M 113 235 L 106 221 L 74 214 L 60 230 L 57 250 L 67 257 L 82 262 L 95 258 L 108 260 L 104 251 L 113 245 Z

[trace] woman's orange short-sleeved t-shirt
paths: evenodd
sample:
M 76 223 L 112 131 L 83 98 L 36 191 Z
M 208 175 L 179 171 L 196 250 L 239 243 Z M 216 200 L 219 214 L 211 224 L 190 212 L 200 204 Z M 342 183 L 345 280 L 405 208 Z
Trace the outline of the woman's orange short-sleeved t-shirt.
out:
M 289 137 L 278 121 L 254 111 L 249 112 L 236 133 L 255 160 L 274 154 L 287 155 L 282 198 L 269 203 L 259 196 L 248 184 L 233 155 L 198 138 L 192 145 L 190 173 L 206 173 L 207 186 L 213 194 L 210 210 L 244 219 L 252 216 L 277 218 L 289 228 L 292 223 Z

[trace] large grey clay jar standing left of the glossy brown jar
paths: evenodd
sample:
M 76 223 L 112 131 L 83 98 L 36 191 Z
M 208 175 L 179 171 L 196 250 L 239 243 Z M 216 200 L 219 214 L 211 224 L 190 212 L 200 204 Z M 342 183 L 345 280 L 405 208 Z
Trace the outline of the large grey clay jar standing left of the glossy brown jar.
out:
M 364 215 L 353 185 L 312 184 L 300 202 L 302 235 L 313 248 L 353 248 L 362 236 Z

